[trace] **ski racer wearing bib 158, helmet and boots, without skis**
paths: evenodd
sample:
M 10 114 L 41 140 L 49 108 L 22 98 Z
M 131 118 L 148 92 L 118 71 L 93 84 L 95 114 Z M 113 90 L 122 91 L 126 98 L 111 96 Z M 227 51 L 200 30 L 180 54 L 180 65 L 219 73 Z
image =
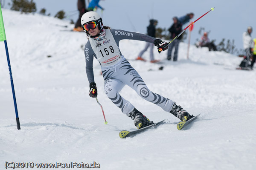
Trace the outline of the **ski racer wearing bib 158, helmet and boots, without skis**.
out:
M 97 87 L 93 75 L 94 56 L 101 65 L 102 75 L 105 80 L 105 94 L 125 115 L 134 120 L 134 124 L 138 129 L 154 123 L 139 112 L 129 101 L 122 98 L 119 92 L 125 85 L 130 86 L 142 98 L 172 113 L 181 121 L 187 121 L 193 117 L 172 100 L 151 92 L 119 49 L 119 41 L 123 39 L 154 43 L 159 52 L 168 49 L 168 43 L 148 35 L 115 30 L 110 29 L 108 26 L 103 26 L 102 18 L 96 12 L 85 13 L 81 17 L 81 25 L 88 37 L 84 54 L 86 58 L 86 74 L 90 83 L 90 97 L 97 97 Z

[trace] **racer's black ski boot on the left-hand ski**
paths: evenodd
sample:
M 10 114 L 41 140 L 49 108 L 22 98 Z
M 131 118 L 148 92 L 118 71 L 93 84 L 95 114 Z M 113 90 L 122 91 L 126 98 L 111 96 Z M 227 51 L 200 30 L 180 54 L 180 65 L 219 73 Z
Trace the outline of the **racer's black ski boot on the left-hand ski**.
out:
M 148 125 L 154 124 L 153 121 L 150 121 L 146 116 L 134 108 L 128 115 L 132 120 L 134 120 L 134 125 L 140 129 Z

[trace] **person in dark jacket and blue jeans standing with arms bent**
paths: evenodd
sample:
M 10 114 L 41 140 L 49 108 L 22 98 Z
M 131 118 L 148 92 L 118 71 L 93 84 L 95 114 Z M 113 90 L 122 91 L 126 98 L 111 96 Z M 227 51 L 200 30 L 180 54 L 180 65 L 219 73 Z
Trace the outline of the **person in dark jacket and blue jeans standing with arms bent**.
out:
M 169 28 L 169 32 L 171 33 L 171 40 L 173 38 L 175 38 L 177 35 L 179 35 L 180 32 L 182 31 L 182 28 L 181 28 L 182 25 L 178 21 L 178 18 L 173 17 L 172 19 L 173 19 L 173 24 L 172 24 L 171 28 Z M 172 49 L 173 49 L 173 47 L 175 47 L 173 61 L 177 61 L 180 39 L 181 39 L 181 36 L 177 37 L 176 40 L 172 41 L 172 43 L 169 44 L 169 48 L 168 48 L 168 52 L 167 52 L 167 60 L 172 59 Z

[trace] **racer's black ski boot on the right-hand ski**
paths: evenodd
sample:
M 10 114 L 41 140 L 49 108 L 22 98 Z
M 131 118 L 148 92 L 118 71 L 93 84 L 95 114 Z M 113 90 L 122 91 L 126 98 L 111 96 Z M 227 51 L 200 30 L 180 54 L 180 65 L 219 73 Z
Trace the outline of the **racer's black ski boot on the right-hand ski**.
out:
M 177 106 L 177 104 L 175 102 L 172 106 L 170 113 L 175 115 L 181 121 L 188 121 L 189 119 L 195 117 L 193 115 L 189 115 L 189 113 L 186 112 L 186 110 L 184 110 L 181 106 Z

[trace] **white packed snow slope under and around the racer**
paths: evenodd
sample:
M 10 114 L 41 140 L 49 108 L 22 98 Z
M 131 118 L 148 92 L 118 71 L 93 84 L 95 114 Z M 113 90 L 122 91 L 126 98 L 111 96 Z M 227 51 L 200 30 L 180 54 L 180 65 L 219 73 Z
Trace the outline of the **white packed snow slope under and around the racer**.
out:
M 121 95 L 138 110 L 151 121 L 166 121 L 122 139 L 119 131 L 136 127 L 105 95 L 96 60 L 98 99 L 107 125 L 102 109 L 88 95 L 85 33 L 63 31 L 73 25 L 53 17 L 2 11 L 21 130 L 16 126 L 5 47 L 0 42 L 0 169 L 6 161 L 95 161 L 102 170 L 256 169 L 256 69 L 234 69 L 241 58 L 191 45 L 187 59 L 185 42 L 180 43 L 177 62 L 167 61 L 167 52 L 158 54 L 155 49 L 155 59 L 161 63 L 154 64 L 134 60 L 145 42 L 120 41 L 122 54 L 151 91 L 190 114 L 201 113 L 178 131 L 179 119 L 125 86 Z M 149 52 L 143 57 L 149 60 Z

